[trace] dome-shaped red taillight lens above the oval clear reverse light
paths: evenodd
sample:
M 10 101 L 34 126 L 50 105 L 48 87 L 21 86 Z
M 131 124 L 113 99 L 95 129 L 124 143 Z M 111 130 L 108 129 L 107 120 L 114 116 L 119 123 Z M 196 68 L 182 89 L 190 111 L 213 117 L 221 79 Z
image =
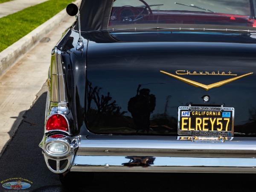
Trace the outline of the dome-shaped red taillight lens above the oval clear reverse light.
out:
M 64 116 L 54 114 L 46 122 L 46 131 L 61 130 L 68 132 L 67 120 Z

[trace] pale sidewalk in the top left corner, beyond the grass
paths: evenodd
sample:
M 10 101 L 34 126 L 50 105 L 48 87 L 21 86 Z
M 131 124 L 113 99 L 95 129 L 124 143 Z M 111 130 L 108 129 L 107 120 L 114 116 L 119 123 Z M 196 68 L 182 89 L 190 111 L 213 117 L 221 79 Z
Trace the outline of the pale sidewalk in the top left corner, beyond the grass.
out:
M 0 18 L 45 1 L 47 0 L 12 0 L 5 3 L 0 3 Z

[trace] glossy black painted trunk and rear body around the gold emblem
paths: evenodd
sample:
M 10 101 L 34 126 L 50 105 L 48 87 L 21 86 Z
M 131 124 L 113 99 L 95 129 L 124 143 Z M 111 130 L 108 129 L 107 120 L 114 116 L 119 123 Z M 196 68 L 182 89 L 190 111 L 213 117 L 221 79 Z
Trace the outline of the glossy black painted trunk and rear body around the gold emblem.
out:
M 72 133 L 177 134 L 178 106 L 235 108 L 235 135 L 256 134 L 256 39 L 250 33 L 68 31 L 63 51 Z M 160 73 L 253 75 L 208 91 Z M 234 76 L 182 76 L 211 84 Z M 205 103 L 202 96 L 208 95 Z

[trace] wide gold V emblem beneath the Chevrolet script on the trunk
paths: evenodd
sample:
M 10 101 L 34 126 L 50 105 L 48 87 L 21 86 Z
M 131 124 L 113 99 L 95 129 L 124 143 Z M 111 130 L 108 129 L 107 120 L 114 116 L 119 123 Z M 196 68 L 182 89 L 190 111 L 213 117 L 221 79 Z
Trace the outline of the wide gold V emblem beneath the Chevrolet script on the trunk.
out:
M 196 81 L 192 81 L 192 80 L 189 80 L 189 79 L 185 79 L 185 78 L 182 78 L 182 77 L 179 77 L 179 76 L 175 76 L 175 75 L 173 75 L 173 74 L 171 74 L 171 73 L 167 73 L 167 72 L 165 72 L 165 71 L 160 71 L 160 72 L 163 73 L 163 74 L 166 74 L 166 75 L 168 75 L 168 76 L 171 76 L 171 77 L 173 77 L 173 78 L 175 78 L 175 79 L 178 79 L 178 80 L 180 80 L 180 81 L 183 81 L 183 82 L 185 82 L 185 83 L 187 83 L 187 84 L 191 84 L 191 85 L 193 85 L 193 86 L 195 86 L 195 87 L 201 87 L 201 88 L 203 88 L 203 89 L 205 89 L 205 90 L 209 90 L 209 89 L 214 88 L 214 87 L 220 87 L 221 85 L 230 83 L 230 82 L 232 82 L 232 81 L 236 81 L 237 79 L 240 79 L 240 78 L 242 78 L 242 77 L 249 76 L 249 75 L 253 74 L 253 73 L 247 73 L 247 74 L 244 74 L 244 75 L 241 75 L 241 76 L 238 76 L 238 77 L 233 77 L 233 78 L 231 78 L 231 79 L 227 79 L 227 80 L 224 80 L 224 81 L 219 81 L 219 82 L 217 82 L 217 83 L 213 83 L 213 84 L 208 84 L 208 85 L 206 85 L 206 84 L 201 84 L 201 83 L 198 83 L 198 82 L 196 82 Z

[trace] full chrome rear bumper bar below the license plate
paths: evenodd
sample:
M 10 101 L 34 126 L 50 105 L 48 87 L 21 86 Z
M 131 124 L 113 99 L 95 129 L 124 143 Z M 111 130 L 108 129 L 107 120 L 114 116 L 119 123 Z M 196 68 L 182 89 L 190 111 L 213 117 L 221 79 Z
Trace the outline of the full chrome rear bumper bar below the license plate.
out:
M 177 137 L 124 138 L 80 137 L 71 171 L 256 173 L 254 137 L 224 143 L 195 143 Z

